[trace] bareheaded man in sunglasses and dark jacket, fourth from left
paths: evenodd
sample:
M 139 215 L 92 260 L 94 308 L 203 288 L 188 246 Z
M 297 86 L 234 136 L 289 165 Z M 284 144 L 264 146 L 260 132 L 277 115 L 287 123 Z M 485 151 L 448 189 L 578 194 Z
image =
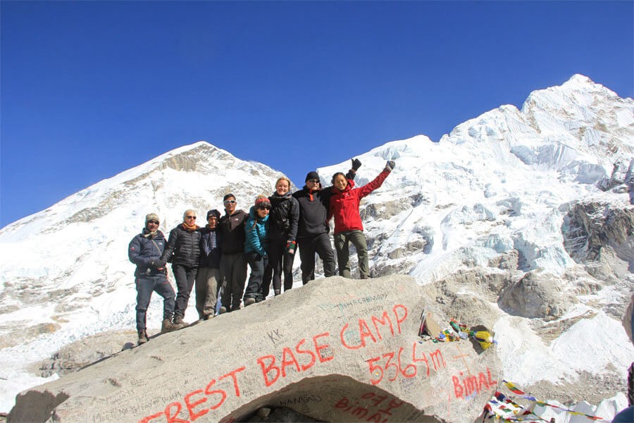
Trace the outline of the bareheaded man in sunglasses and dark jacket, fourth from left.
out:
M 242 209 L 236 210 L 235 195 L 229 193 L 223 197 L 225 215 L 220 218 L 220 234 L 223 237 L 223 254 L 220 256 L 220 293 L 219 313 L 240 309 L 244 283 L 247 282 L 247 257 L 244 255 L 244 223 L 249 214 Z

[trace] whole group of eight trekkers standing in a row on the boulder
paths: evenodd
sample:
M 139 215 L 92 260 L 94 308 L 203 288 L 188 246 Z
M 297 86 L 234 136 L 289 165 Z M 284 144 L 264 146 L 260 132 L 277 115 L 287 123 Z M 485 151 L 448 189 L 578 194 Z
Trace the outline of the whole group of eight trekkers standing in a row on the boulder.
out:
M 187 326 L 183 317 L 189 295 L 196 286 L 199 320 L 218 313 L 233 312 L 265 300 L 273 283 L 280 295 L 293 286 L 292 266 L 295 251 L 302 261 L 302 283 L 315 278 L 315 255 L 323 261 L 324 276 L 335 275 L 335 252 L 330 245 L 330 219 L 335 219 L 335 250 L 340 275 L 350 278 L 349 243 L 356 247 L 359 276 L 370 277 L 368 247 L 359 214 L 361 198 L 379 188 L 394 168 L 385 168 L 370 183 L 354 188 L 361 161 L 352 159 L 352 168 L 332 176 L 332 186 L 321 187 L 318 173 L 306 175 L 306 185 L 291 193 L 285 176 L 275 182 L 271 196 L 259 195 L 249 212 L 237 209 L 235 195 L 223 197 L 225 214 L 217 209 L 206 214 L 207 224 L 196 224 L 194 210 L 186 210 L 183 221 L 170 231 L 168 240 L 159 230 L 160 219 L 150 213 L 142 233 L 130 241 L 128 257 L 137 265 L 137 332 L 139 344 L 148 341 L 146 314 L 151 293 L 163 297 L 161 332 Z M 166 264 L 172 264 L 177 292 L 167 279 Z M 247 283 L 247 264 L 251 274 Z M 246 283 L 246 286 L 245 286 Z

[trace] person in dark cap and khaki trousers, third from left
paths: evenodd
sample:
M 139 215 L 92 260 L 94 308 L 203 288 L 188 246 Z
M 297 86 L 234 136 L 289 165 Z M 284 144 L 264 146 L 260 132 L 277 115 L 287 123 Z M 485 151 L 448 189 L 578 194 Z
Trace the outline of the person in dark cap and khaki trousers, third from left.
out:
M 199 320 L 207 320 L 216 313 L 222 248 L 218 220 L 220 212 L 216 209 L 209 210 L 207 225 L 200 230 L 200 265 L 196 275 L 196 309 Z

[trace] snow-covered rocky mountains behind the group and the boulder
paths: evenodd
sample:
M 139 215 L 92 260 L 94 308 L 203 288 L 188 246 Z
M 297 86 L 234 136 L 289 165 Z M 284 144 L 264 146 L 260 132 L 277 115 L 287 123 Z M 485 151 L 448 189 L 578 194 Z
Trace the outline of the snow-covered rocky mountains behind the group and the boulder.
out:
M 634 361 L 620 322 L 634 289 L 623 183 L 634 160 L 632 99 L 575 75 L 440 142 L 419 135 L 358 157 L 358 186 L 397 163 L 361 203 L 373 275 L 411 274 L 437 298 L 430 306 L 494 329 L 506 380 L 552 384 L 549 393 L 565 384 L 576 400 L 624 391 Z M 348 167 L 318 172 L 329 183 Z M 227 192 L 248 209 L 279 175 L 197 142 L 2 229 L 0 411 L 44 381 L 32 363 L 77 338 L 134 327 L 126 251 L 147 212 L 167 233 L 185 209 L 221 210 Z M 149 321 L 159 309 L 153 298 Z M 592 398 L 583 383 L 594 384 Z

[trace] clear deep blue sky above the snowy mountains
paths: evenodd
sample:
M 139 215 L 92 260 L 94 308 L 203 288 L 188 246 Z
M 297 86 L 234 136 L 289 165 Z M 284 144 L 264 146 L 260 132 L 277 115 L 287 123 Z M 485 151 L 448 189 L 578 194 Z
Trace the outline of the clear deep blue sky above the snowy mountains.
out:
M 634 97 L 632 1 L 0 2 L 0 227 L 206 140 L 302 185 L 587 75 Z

